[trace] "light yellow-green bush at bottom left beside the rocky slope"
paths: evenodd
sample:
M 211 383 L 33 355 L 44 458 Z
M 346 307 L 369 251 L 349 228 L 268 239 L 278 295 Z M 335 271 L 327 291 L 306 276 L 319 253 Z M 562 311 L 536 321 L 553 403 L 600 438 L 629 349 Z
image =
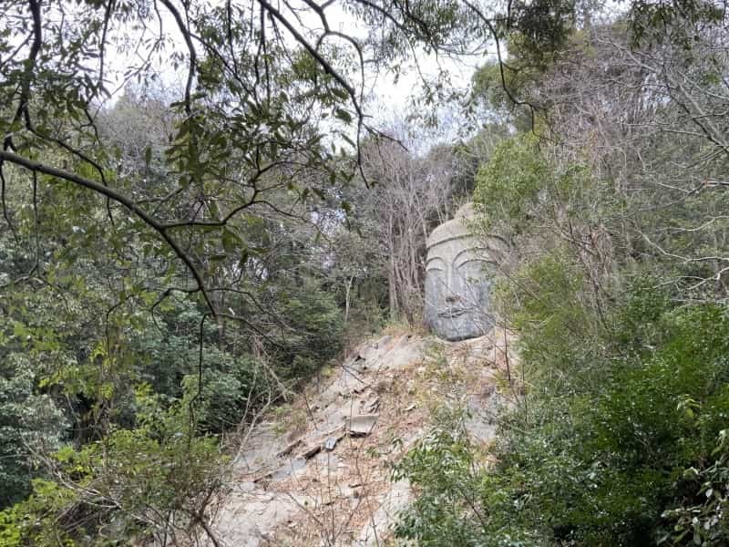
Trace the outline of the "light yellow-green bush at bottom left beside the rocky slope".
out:
M 56 452 L 57 481 L 35 480 L 26 501 L 0 513 L 3 545 L 116 545 L 195 532 L 221 488 L 227 460 L 216 439 L 195 436 L 189 408 L 137 390 L 137 428 L 112 428 L 81 449 Z

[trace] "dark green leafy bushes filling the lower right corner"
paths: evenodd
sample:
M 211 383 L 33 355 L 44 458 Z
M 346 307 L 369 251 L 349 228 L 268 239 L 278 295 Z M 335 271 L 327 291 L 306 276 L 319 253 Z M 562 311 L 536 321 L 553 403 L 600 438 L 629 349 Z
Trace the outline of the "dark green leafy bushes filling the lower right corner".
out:
M 501 420 L 491 468 L 443 433 L 408 456 L 402 476 L 424 499 L 401 536 L 432 545 L 729 542 L 726 310 L 671 309 L 638 283 L 612 317 L 610 333 L 582 339 L 592 349 L 580 355 L 600 359 L 600 382 L 594 366 L 573 363 L 560 385 L 540 383 L 526 408 Z M 628 342 L 637 349 L 624 351 Z M 529 336 L 526 344 L 534 350 Z M 526 355 L 539 366 L 539 352 Z

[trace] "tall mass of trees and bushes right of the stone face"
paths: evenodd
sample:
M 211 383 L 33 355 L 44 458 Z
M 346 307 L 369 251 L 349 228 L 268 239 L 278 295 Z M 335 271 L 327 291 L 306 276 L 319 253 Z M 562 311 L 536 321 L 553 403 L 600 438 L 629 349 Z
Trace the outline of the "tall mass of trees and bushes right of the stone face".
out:
M 515 129 L 475 201 L 518 255 L 497 296 L 523 379 L 492 446 L 436 419 L 395 468 L 419 490 L 398 535 L 729 542 L 725 21 L 708 3 L 634 4 L 575 19 L 549 55 L 516 32 L 506 70 L 477 73 L 474 97 Z

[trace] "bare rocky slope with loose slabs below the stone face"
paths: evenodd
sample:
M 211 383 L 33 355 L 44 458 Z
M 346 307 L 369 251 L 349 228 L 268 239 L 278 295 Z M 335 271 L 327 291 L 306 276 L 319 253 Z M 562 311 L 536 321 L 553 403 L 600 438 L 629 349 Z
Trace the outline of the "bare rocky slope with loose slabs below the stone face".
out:
M 438 406 L 468 408 L 493 436 L 513 356 L 500 329 L 463 342 L 386 335 L 364 343 L 249 432 L 213 530 L 221 545 L 379 545 L 414 492 L 390 466 Z

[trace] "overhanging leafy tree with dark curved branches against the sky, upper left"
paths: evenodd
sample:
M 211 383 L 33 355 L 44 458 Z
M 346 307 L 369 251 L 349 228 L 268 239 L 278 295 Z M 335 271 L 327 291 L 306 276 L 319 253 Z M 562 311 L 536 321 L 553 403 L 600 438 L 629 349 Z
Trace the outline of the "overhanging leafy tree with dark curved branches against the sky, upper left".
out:
M 134 230 L 156 247 L 168 277 L 180 274 L 163 296 L 199 294 L 210 314 L 225 315 L 215 300 L 230 287 L 218 286 L 227 276 L 212 259 L 254 252 L 241 222 L 275 211 L 272 191 L 306 199 L 359 170 L 364 136 L 375 131 L 365 114 L 366 67 L 397 72 L 420 47 L 484 51 L 501 26 L 523 25 L 529 13 L 526 4 L 517 17 L 469 2 L 345 2 L 347 16 L 369 31 L 361 38 L 334 29 L 334 5 L 304 4 L 306 16 L 266 0 L 9 3 L 0 33 L 3 196 L 24 183 L 10 178 L 10 165 L 28 177 L 41 214 L 49 185 L 93 192 L 107 209 L 93 222 L 111 236 Z M 531 32 L 539 36 L 539 26 Z M 119 58 L 129 64 L 123 74 Z M 99 130 L 111 80 L 145 88 L 169 65 L 184 72 L 170 91 L 169 142 L 118 150 L 113 134 Z M 334 162 L 343 150 L 354 161 Z M 129 177 L 122 160 L 158 163 L 159 176 Z M 3 212 L 12 226 L 5 199 Z

